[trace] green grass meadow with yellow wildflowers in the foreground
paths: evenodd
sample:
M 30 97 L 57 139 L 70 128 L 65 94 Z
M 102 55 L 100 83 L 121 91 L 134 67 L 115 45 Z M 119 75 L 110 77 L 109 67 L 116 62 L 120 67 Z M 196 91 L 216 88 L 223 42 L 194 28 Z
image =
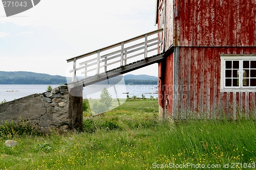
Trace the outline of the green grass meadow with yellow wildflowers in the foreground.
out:
M 83 132 L 14 135 L 8 138 L 18 141 L 14 148 L 5 147 L 7 138 L 2 137 L 0 169 L 162 169 L 153 165 L 169 163 L 220 164 L 219 169 L 231 169 L 236 162 L 254 165 L 253 119 L 172 123 L 157 118 L 157 108 L 156 100 L 128 100 L 101 116 L 84 112 Z M 229 168 L 223 168 L 224 163 Z

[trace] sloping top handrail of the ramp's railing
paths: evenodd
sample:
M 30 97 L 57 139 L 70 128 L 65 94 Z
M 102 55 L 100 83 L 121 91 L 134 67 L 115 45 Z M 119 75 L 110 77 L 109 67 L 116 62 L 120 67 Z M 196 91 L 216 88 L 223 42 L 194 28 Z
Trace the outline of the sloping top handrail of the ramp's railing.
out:
M 113 44 L 113 45 L 106 46 L 106 47 L 100 48 L 100 49 L 98 49 L 98 50 L 95 50 L 95 51 L 92 51 L 92 52 L 89 52 L 89 53 L 86 53 L 86 54 L 83 54 L 83 55 L 80 55 L 80 56 L 77 56 L 77 57 L 73 57 L 73 58 L 67 59 L 67 62 L 68 62 L 68 63 L 69 63 L 69 62 L 72 62 L 72 61 L 74 61 L 75 58 L 76 58 L 76 60 L 78 60 L 78 59 L 81 59 L 81 58 L 84 58 L 84 57 L 87 57 L 87 56 L 91 56 L 91 55 L 97 54 L 98 51 L 103 52 L 103 51 L 109 50 L 109 49 L 111 49 L 111 48 L 117 47 L 117 46 L 119 46 L 121 43 L 125 44 L 125 43 L 129 43 L 129 42 L 132 42 L 132 41 L 136 41 L 136 40 L 138 40 L 138 39 L 140 39 L 140 38 L 144 38 L 145 35 L 150 36 L 150 35 L 153 35 L 153 34 L 162 32 L 162 31 L 163 31 L 163 28 L 158 29 L 158 30 L 155 30 L 155 31 L 151 31 L 151 32 L 148 32 L 148 33 L 145 33 L 145 34 L 136 36 L 136 37 L 134 37 L 134 38 L 127 39 L 127 40 L 125 40 L 125 41 L 121 41 L 121 42 L 115 43 L 115 44 Z

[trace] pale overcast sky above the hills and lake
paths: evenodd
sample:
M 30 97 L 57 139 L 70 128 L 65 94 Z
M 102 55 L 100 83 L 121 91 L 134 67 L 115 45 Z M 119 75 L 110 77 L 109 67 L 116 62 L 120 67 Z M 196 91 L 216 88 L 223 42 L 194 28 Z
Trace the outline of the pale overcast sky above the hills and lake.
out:
M 66 76 L 67 59 L 157 30 L 155 0 L 41 0 L 6 17 L 0 5 L 0 71 Z M 129 74 L 158 75 L 153 64 Z

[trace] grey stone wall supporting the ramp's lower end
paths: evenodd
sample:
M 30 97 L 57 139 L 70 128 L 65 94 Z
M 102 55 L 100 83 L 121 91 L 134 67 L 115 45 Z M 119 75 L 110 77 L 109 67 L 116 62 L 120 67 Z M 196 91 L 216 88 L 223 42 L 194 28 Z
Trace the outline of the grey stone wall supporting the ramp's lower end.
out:
M 59 128 L 67 131 L 71 128 L 69 118 L 70 94 L 66 85 L 51 91 L 25 96 L 0 105 L 0 124 L 5 120 L 18 122 L 19 119 L 29 120 L 32 126 L 42 132 Z

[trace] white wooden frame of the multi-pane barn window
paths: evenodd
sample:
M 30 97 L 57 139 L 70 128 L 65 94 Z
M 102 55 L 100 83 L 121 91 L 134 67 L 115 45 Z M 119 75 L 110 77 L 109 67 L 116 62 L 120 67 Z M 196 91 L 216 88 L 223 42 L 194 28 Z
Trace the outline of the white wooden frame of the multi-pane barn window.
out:
M 221 58 L 221 92 L 256 92 L 256 87 L 243 86 L 243 61 L 256 61 L 256 55 L 220 55 Z M 225 87 L 225 61 L 239 61 L 239 86 Z

